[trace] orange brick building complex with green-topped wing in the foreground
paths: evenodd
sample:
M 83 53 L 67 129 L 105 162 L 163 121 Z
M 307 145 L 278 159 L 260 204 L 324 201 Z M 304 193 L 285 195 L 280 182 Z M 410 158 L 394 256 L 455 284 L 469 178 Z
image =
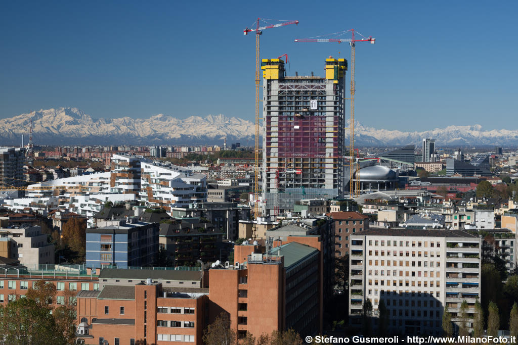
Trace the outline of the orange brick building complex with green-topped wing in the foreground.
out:
M 199 271 L 105 268 L 100 291 L 77 295 L 77 336 L 86 344 L 202 344 L 221 312 L 238 338 L 290 328 L 301 336 L 321 333 L 322 246 L 320 236 L 289 236 L 268 254 L 258 245 L 236 245 L 235 262 L 203 278 Z

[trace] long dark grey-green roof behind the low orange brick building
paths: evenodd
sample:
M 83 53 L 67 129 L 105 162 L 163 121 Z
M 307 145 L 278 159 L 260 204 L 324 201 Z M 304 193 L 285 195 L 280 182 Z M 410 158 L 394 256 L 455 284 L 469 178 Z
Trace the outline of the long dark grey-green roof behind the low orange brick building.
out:
M 176 271 L 174 269 L 131 269 L 131 268 L 103 268 L 100 271 L 99 279 L 140 279 L 147 278 L 163 280 L 201 280 L 201 271 Z

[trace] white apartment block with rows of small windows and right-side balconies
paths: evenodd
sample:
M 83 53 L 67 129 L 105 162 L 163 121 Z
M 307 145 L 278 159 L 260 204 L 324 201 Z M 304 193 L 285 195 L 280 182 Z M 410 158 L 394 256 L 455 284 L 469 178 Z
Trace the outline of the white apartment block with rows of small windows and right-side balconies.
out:
M 481 239 L 462 230 L 368 229 L 350 237 L 349 320 L 361 326 L 369 299 L 378 324 L 383 300 L 389 331 L 440 335 L 448 305 L 457 322 L 461 303 L 480 298 Z M 469 321 L 471 327 L 472 319 Z

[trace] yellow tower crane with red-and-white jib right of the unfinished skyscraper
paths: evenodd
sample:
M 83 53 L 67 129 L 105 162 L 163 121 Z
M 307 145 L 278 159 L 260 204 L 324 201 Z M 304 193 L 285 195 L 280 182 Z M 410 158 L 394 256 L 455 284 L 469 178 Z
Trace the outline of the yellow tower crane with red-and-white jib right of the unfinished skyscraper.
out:
M 351 33 L 351 38 L 342 38 L 341 36 Z M 361 36 L 361 39 L 356 39 L 355 34 L 358 34 Z M 316 36 L 316 37 L 310 37 L 305 39 L 296 39 L 295 42 L 349 42 L 351 45 L 351 123 L 349 124 L 349 130 L 350 130 L 350 156 L 351 159 L 349 160 L 349 193 L 351 197 L 357 198 L 359 195 L 359 158 L 354 160 L 354 94 L 356 93 L 355 88 L 355 74 L 354 74 L 354 62 L 355 62 L 355 48 L 356 48 L 356 42 L 370 42 L 371 44 L 376 43 L 376 39 L 372 37 L 366 37 L 362 34 L 358 33 L 354 29 L 341 31 L 338 33 L 330 34 L 327 36 L 333 36 L 331 38 L 324 38 L 324 36 Z M 347 128 L 344 128 L 347 129 Z M 354 180 L 355 186 L 354 186 Z M 354 193 L 354 194 L 353 194 Z

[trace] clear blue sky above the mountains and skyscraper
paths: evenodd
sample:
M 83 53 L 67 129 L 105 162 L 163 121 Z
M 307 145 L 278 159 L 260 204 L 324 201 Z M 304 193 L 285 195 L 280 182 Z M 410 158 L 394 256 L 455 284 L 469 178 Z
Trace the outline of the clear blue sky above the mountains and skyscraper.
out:
M 0 117 L 77 107 L 93 117 L 253 119 L 257 17 L 261 56 L 289 54 L 288 73 L 322 75 L 347 44 L 294 43 L 350 28 L 356 116 L 369 127 L 517 129 L 518 44 L 511 1 L 3 1 Z

